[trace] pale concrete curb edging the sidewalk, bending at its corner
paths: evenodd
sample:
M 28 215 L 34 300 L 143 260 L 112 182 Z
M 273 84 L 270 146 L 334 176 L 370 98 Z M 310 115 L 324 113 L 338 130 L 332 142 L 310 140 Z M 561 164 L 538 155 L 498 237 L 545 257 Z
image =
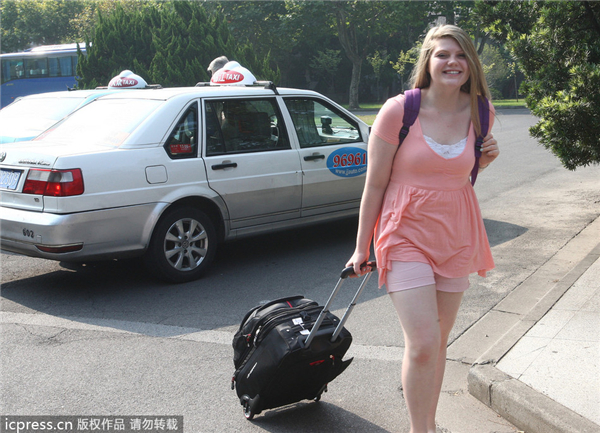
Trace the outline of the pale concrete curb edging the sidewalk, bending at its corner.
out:
M 600 219 L 596 223 L 598 221 Z M 600 244 L 597 244 L 494 345 L 489 347 L 474 362 L 469 371 L 467 380 L 469 393 L 527 433 L 600 432 L 600 426 L 596 423 L 494 366 L 599 258 Z

